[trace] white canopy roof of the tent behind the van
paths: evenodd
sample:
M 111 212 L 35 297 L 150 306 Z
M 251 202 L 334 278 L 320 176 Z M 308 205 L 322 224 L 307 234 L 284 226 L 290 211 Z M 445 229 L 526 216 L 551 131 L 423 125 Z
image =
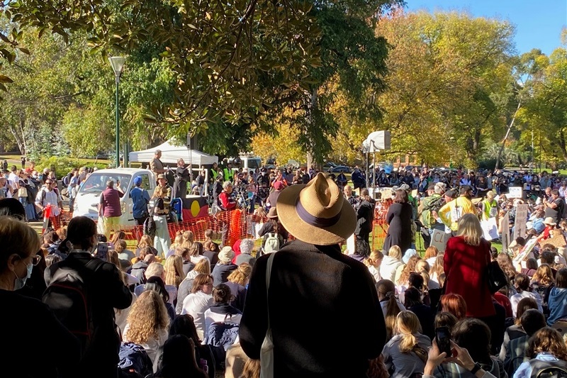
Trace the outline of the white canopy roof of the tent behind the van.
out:
M 181 158 L 189 164 L 189 148 L 186 145 L 172 145 L 171 142 L 172 140 L 167 140 L 167 142 L 147 150 L 130 152 L 128 158 L 130 162 L 150 162 L 154 158 L 154 152 L 162 150 L 162 157 L 159 159 L 162 162 L 176 164 L 177 159 Z M 191 165 L 211 165 L 215 162 L 218 163 L 217 156 L 208 155 L 198 150 L 191 150 Z

